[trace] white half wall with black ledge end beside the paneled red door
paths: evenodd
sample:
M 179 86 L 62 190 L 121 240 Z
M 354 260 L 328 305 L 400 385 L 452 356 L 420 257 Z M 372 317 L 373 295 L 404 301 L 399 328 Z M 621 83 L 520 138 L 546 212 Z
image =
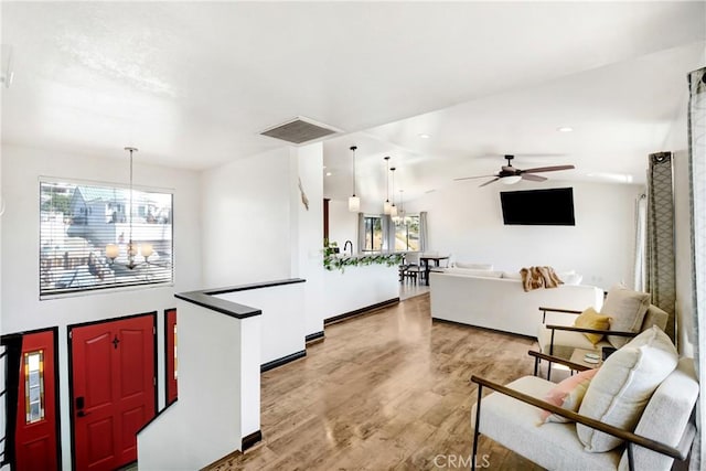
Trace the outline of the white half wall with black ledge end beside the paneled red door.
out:
M 138 435 L 139 467 L 149 471 L 202 469 L 260 428 L 260 317 L 184 301 L 178 309 L 179 400 Z

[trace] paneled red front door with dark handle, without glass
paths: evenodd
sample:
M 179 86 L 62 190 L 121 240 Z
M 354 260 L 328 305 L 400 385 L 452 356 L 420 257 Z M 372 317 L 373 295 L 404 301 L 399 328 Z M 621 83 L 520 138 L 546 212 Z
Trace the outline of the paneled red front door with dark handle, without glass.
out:
M 137 431 L 154 416 L 154 317 L 71 329 L 78 471 L 137 460 Z

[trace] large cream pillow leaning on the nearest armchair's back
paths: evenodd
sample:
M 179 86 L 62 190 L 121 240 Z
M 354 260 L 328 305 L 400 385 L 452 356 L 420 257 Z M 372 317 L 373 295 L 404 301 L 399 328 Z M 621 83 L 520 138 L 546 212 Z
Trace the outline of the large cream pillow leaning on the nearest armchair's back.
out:
M 670 338 L 653 327 L 617 350 L 603 362 L 578 409 L 582 416 L 634 430 L 652 393 L 678 362 Z M 590 452 L 610 451 L 622 440 L 577 424 L 578 438 Z

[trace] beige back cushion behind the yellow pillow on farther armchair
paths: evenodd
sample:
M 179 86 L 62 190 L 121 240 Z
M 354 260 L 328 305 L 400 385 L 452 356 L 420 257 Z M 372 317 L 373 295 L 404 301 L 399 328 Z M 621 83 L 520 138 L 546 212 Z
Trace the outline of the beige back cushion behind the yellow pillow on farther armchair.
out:
M 601 314 L 610 315 L 610 330 L 621 332 L 640 332 L 644 313 L 650 306 L 650 293 L 633 291 L 624 286 L 614 286 L 608 291 Z M 630 339 L 608 335 L 608 341 L 616 349 L 620 349 Z

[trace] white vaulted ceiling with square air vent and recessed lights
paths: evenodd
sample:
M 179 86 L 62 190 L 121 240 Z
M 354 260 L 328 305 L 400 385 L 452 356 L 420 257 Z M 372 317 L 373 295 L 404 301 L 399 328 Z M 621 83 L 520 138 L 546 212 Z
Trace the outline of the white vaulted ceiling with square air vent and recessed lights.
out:
M 258 133 L 306 116 L 344 131 L 324 140 L 333 199 L 352 190 L 351 144 L 364 199 L 384 193 L 384 156 L 408 199 L 474 184 L 453 178 L 504 153 L 640 182 L 704 66 L 705 7 L 2 2 L 2 142 L 205 169 L 286 146 Z

